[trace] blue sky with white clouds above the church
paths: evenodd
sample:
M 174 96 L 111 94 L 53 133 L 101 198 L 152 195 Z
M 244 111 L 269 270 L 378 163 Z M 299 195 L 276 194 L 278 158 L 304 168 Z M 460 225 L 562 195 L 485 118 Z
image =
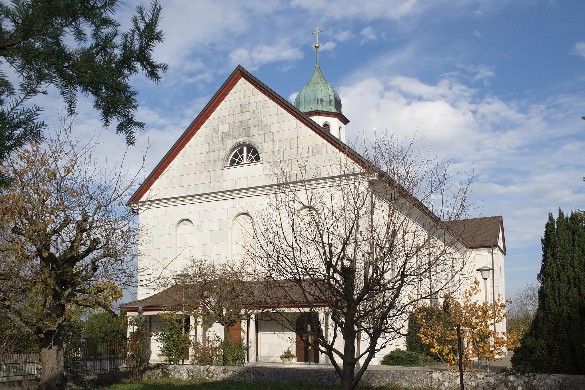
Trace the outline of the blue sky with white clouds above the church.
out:
M 127 26 L 133 7 L 118 11 Z M 169 64 L 159 85 L 143 77 L 139 119 L 147 123 L 133 164 L 152 143 L 147 168 L 242 64 L 294 99 L 311 76 L 315 26 L 321 70 L 350 119 L 364 129 L 422 137 L 419 146 L 455 156 L 479 174 L 483 215 L 503 215 L 507 295 L 535 280 L 548 212 L 585 201 L 585 2 L 555 0 L 186 1 L 161 0 Z M 54 97 L 54 96 L 53 96 Z M 59 108 L 47 101 L 47 119 Z M 78 131 L 97 129 L 101 154 L 123 139 L 101 129 L 88 102 Z

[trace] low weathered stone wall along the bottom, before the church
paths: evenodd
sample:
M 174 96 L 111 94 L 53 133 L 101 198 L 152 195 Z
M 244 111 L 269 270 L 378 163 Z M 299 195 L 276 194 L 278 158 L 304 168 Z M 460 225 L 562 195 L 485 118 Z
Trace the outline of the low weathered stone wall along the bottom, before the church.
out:
M 336 372 L 327 368 L 223 367 L 158 364 L 144 379 L 208 379 L 257 383 L 308 385 L 339 384 Z M 585 390 L 585 376 L 555 374 L 497 374 L 464 372 L 466 390 Z M 404 386 L 458 390 L 459 374 L 446 371 L 368 370 L 363 386 Z

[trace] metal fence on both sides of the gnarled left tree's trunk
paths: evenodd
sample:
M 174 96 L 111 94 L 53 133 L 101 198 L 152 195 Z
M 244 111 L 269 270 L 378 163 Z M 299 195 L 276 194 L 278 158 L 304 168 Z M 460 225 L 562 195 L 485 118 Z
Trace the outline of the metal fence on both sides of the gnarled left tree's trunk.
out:
M 126 339 L 86 339 L 69 341 L 64 348 L 66 375 L 128 371 Z M 40 355 L 0 355 L 0 381 L 40 378 Z

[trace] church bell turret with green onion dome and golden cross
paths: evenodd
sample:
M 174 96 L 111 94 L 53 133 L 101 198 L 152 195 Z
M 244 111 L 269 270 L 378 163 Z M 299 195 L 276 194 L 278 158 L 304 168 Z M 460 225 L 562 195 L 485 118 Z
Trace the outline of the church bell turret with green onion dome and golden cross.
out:
M 318 35 L 320 32 L 317 29 L 313 34 Z M 349 120 L 341 113 L 339 95 L 335 92 L 335 89 L 331 88 L 331 85 L 327 84 L 321 73 L 318 40 L 315 43 L 315 50 L 315 70 L 307 85 L 301 89 L 301 92 L 295 98 L 294 106 L 340 141 L 345 142 L 345 125 L 349 123 Z

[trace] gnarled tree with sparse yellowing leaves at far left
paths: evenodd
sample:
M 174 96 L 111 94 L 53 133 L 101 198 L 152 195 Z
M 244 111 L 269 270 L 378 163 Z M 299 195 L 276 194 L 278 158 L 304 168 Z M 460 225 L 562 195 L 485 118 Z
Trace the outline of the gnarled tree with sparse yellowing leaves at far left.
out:
M 5 161 L 14 181 L 0 194 L 0 310 L 39 339 L 42 389 L 64 388 L 64 327 L 91 308 L 112 312 L 137 248 L 125 205 L 134 180 L 98 165 L 97 140 L 81 144 L 72 125 Z

